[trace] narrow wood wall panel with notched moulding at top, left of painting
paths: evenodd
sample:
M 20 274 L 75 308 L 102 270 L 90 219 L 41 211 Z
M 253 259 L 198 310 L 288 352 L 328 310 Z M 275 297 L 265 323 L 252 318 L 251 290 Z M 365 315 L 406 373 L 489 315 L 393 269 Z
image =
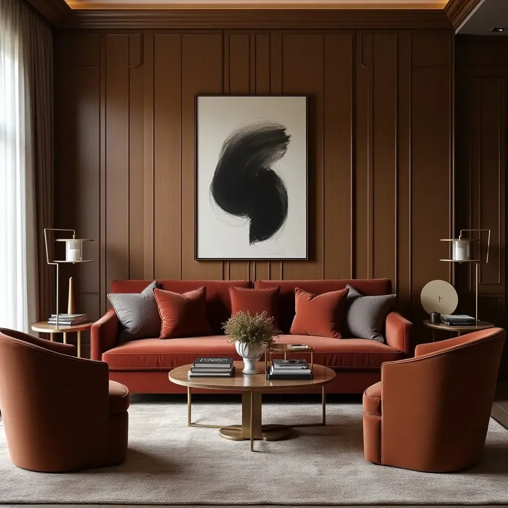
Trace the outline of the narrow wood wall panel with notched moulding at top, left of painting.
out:
M 143 278 L 143 38 L 129 36 L 129 278 Z

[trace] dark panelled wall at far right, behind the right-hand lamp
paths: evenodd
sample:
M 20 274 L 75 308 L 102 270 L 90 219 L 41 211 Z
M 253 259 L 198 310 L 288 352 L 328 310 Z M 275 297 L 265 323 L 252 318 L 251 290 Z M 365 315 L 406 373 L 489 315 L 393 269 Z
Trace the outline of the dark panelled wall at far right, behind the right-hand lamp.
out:
M 508 41 L 494 36 L 458 37 L 456 48 L 456 229 L 491 230 L 489 263 L 480 272 L 479 313 L 480 319 L 506 328 Z M 459 265 L 456 278 L 459 301 L 470 312 L 474 310 L 474 271 Z M 507 347 L 502 373 L 508 378 Z

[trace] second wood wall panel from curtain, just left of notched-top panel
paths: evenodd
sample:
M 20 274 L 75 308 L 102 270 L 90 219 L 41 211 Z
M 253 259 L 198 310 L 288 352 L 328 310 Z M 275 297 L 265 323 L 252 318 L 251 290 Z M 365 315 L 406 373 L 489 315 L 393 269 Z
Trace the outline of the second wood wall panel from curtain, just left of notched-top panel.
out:
M 129 36 L 106 35 L 106 285 L 129 277 Z

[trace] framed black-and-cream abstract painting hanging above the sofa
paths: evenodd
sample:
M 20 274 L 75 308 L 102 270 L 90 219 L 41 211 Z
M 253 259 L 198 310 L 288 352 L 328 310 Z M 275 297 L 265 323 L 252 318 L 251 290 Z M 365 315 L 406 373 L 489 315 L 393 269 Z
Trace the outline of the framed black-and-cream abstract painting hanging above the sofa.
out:
M 196 96 L 195 258 L 305 260 L 307 96 Z

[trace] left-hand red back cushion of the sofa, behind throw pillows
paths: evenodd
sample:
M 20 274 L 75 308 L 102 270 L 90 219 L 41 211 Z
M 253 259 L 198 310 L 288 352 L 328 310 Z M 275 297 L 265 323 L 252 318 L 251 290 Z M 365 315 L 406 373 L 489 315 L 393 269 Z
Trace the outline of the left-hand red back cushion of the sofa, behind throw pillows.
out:
M 151 280 L 113 280 L 112 293 L 141 293 Z M 185 293 L 204 285 L 206 288 L 206 315 L 216 334 L 222 334 L 222 324 L 231 316 L 231 299 L 228 287 L 252 288 L 250 280 L 157 280 L 159 288 L 175 293 Z M 275 284 L 271 284 L 273 288 Z

